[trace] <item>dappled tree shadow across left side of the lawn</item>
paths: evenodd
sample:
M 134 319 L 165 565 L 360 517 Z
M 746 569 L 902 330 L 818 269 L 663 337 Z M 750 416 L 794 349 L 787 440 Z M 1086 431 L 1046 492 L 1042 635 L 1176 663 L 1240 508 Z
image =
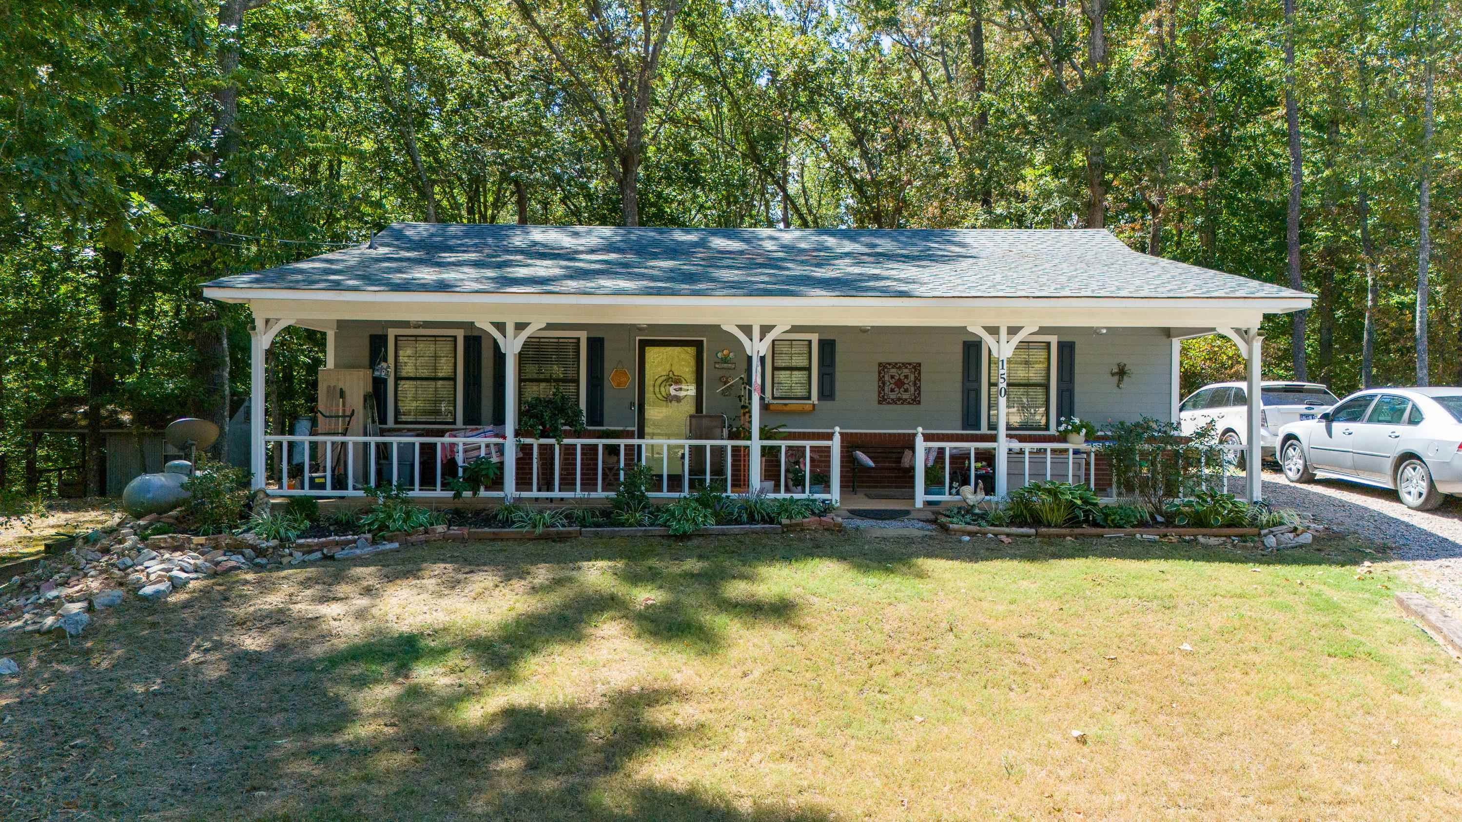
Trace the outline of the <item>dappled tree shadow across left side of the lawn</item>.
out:
M 605 619 L 687 656 L 722 653 L 724 634 L 738 623 L 795 626 L 794 599 L 741 590 L 773 565 L 832 559 L 870 578 L 917 580 L 923 559 L 1091 556 L 1327 565 L 1363 555 L 1344 545 L 1260 553 L 1136 540 L 1001 545 L 814 533 L 652 545 L 437 543 L 235 574 L 164 603 L 129 600 L 73 645 L 20 657 L 22 676 L 0 683 L 0 711 L 16 720 L 0 745 L 0 802 L 13 803 L 7 815 L 18 818 L 80 810 L 174 819 L 822 819 L 789 803 L 749 807 L 626 772 L 697 733 L 658 718 L 677 699 L 673 691 L 611 691 L 537 708 L 474 702 L 496 699 L 541 654 L 589 641 Z M 330 647 L 322 602 L 344 606 L 345 619 L 382 621 L 387 590 L 396 596 L 399 585 L 421 584 L 430 599 L 443 596 L 434 585 L 447 578 L 516 585 L 538 602 L 488 623 Z M 624 587 L 668 596 L 645 607 Z M 452 670 L 471 672 L 475 682 L 450 682 L 450 672 L 434 682 L 414 677 L 453 656 L 465 664 Z M 374 702 L 361 698 L 370 689 L 379 692 Z

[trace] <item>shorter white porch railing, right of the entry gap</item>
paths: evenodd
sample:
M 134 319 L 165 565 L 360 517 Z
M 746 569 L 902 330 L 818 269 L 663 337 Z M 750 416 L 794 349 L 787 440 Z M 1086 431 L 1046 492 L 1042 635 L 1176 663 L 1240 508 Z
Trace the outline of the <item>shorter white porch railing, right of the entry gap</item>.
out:
M 1238 457 L 1244 454 L 1244 445 L 1218 445 L 1221 458 L 1218 464 L 1209 466 L 1206 460 L 1199 463 L 1199 482 L 1203 488 L 1227 491 L 1227 477 L 1237 466 Z M 925 464 L 928 453 L 934 453 L 933 466 L 942 466 L 943 483 L 930 488 L 925 479 Z M 1022 488 L 1032 482 L 1072 482 L 1083 483 L 1095 491 L 1102 499 L 1114 501 L 1118 493 L 1114 482 L 1098 486 L 1096 454 L 1098 444 L 1085 442 L 1075 445 L 1070 442 L 1010 442 L 1006 444 L 1006 486 Z M 977 457 L 985 456 L 985 460 Z M 974 485 L 974 475 L 997 470 L 994 466 L 997 454 L 996 442 L 927 442 L 923 432 L 914 438 L 914 505 L 921 508 L 925 502 L 947 502 L 961 499 L 959 485 Z M 963 464 L 956 469 L 955 463 Z M 991 466 L 988 472 L 974 472 L 972 466 L 984 463 Z M 955 480 L 961 480 L 958 485 Z M 1110 477 L 1108 477 L 1110 479 Z M 990 498 L 996 496 L 994 488 L 985 488 Z

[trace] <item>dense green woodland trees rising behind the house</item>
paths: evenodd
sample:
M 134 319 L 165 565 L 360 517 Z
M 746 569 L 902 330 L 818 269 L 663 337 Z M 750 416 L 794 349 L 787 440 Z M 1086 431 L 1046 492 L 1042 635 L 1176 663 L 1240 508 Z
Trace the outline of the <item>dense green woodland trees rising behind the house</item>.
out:
M 1105 226 L 1317 293 L 1266 377 L 1458 383 L 1459 12 L 0 0 L 0 479 L 45 409 L 227 416 L 247 310 L 199 283 L 393 220 Z M 319 334 L 270 356 L 284 419 Z

